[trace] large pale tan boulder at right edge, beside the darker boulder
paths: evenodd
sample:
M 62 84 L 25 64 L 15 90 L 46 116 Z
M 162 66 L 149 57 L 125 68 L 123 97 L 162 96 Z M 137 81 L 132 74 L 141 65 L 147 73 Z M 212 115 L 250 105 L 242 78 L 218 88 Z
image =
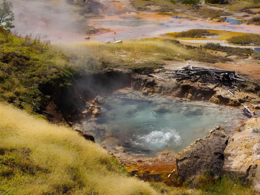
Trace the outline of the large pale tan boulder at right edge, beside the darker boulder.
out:
M 245 122 L 244 130 L 229 138 L 224 152 L 223 171 L 252 181 L 252 187 L 260 192 L 260 118 Z

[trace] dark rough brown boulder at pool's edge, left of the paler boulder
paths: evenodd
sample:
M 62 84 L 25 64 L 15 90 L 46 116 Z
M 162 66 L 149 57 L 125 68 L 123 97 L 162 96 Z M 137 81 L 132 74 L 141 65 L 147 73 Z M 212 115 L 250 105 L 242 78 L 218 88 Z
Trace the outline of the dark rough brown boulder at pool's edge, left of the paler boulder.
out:
M 176 166 L 182 180 L 194 178 L 210 169 L 211 176 L 219 175 L 224 164 L 224 150 L 229 136 L 218 126 L 203 139 L 197 139 L 176 155 Z

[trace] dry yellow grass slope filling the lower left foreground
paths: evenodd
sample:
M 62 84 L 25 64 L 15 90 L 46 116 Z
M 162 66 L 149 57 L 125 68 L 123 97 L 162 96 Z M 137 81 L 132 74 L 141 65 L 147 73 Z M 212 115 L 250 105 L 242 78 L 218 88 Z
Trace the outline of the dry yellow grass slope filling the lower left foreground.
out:
M 0 193 L 157 194 L 73 130 L 0 103 Z

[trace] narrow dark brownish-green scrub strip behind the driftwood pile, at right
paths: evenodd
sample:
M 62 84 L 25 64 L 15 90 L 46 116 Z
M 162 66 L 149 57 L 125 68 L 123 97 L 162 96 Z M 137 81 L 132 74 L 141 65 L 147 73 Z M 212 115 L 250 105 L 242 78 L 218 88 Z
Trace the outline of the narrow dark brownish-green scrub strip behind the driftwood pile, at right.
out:
M 214 44 L 214 43 L 207 43 L 203 45 L 203 47 L 209 50 L 225 52 L 227 53 L 228 56 L 231 55 L 245 56 L 245 55 L 252 55 L 254 53 L 254 50 L 252 50 L 251 48 L 225 47 L 225 46 L 221 46 L 220 44 Z

